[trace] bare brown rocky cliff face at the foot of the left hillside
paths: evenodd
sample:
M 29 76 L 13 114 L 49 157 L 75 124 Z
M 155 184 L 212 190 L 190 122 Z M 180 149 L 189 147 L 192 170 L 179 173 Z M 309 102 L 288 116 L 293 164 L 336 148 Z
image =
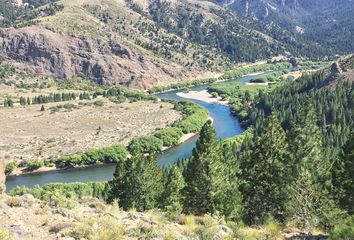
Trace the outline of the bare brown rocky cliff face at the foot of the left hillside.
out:
M 40 26 L 0 29 L 0 55 L 32 73 L 146 88 L 189 78 L 184 67 L 166 63 L 119 40 L 76 37 Z

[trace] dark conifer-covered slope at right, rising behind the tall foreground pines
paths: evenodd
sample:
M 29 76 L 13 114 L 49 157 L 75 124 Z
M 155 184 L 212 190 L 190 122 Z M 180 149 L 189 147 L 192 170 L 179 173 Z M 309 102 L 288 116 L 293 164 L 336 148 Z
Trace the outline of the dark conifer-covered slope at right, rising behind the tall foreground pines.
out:
M 334 150 L 331 154 L 336 154 L 354 127 L 353 82 L 354 56 L 341 57 L 323 70 L 305 74 L 270 94 L 260 95 L 249 111 L 249 119 L 257 124 L 274 109 L 283 127 L 289 130 L 300 106 L 311 101 L 316 109 L 317 124 L 324 133 L 324 144 Z

